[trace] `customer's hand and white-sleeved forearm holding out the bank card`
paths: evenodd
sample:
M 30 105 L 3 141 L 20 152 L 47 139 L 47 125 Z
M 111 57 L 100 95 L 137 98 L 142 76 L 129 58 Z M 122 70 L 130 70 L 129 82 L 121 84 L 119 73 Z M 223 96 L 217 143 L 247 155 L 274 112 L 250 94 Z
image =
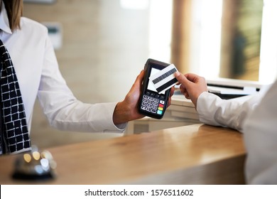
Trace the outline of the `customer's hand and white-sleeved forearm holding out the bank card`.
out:
M 175 77 L 180 82 L 180 91 L 191 99 L 199 115 L 200 122 L 214 126 L 225 126 L 241 131 L 246 116 L 259 103 L 260 97 L 249 96 L 244 100 L 224 100 L 207 92 L 204 77 L 195 74 Z

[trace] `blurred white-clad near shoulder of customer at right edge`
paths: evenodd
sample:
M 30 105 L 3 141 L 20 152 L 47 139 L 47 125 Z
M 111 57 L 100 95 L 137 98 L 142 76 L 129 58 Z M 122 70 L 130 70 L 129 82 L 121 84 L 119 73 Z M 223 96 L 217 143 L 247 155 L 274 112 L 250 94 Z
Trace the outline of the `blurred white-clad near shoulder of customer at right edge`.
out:
M 277 82 L 244 125 L 246 182 L 277 184 Z

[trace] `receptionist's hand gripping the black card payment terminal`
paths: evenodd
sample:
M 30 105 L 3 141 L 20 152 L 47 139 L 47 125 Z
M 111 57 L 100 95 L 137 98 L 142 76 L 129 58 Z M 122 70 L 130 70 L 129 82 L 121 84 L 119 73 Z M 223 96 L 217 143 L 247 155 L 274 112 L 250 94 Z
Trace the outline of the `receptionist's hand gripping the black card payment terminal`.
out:
M 114 109 L 113 120 L 114 124 L 122 124 L 134 119 L 141 119 L 143 114 L 139 113 L 139 97 L 141 95 L 142 82 L 144 77 L 144 70 L 136 77 L 134 85 L 127 93 L 125 99 L 122 102 L 116 104 Z M 174 93 L 174 87 L 170 90 L 170 97 L 168 99 L 168 106 L 171 103 L 171 97 Z

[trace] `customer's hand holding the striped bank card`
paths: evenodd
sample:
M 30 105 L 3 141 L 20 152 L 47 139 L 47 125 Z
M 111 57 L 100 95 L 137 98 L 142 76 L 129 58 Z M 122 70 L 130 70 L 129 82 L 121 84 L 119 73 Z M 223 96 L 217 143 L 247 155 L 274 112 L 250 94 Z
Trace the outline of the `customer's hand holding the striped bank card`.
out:
M 180 72 L 175 72 L 175 77 L 180 83 L 180 92 L 182 92 L 187 99 L 191 99 L 196 108 L 199 95 L 207 91 L 205 78 L 192 73 L 183 75 L 180 74 Z

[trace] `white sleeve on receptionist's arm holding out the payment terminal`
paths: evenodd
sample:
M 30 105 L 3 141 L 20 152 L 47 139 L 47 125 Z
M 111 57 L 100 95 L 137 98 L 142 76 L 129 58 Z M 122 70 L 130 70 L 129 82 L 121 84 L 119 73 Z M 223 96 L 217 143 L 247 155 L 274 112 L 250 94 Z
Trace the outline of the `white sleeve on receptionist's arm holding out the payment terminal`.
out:
M 49 38 L 45 43 L 38 99 L 50 125 L 57 129 L 96 132 L 125 130 L 126 124 L 116 127 L 113 123 L 116 103 L 86 104 L 74 97 L 60 74 Z

